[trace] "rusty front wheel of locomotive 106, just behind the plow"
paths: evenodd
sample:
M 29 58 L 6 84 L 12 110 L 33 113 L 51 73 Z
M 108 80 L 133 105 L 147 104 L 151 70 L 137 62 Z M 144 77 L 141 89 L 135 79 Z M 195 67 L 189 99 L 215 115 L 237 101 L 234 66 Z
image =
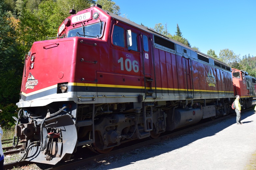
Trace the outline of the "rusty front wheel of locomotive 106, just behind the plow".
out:
M 90 132 L 90 134 L 91 134 L 91 132 Z M 102 137 L 100 136 L 100 134 L 97 131 L 95 131 L 95 143 L 92 143 L 91 147 L 93 148 L 93 150 L 96 153 L 108 153 L 114 148 L 114 147 L 110 147 L 110 148 L 107 148 L 107 149 L 103 149 L 104 141 L 103 141 Z

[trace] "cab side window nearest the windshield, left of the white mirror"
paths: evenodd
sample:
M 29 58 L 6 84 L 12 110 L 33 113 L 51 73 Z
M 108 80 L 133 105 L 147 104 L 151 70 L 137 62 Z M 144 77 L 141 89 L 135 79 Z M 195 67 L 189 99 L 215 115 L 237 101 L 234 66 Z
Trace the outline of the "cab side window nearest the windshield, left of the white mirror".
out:
M 112 42 L 114 45 L 124 47 L 124 29 L 117 25 L 114 25 Z

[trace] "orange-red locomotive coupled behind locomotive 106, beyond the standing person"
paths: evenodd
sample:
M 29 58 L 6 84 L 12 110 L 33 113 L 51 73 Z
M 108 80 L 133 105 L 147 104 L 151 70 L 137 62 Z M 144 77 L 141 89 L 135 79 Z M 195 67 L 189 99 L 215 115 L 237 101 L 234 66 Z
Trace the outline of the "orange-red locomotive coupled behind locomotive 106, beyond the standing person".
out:
M 232 68 L 234 95 L 240 96 L 241 105 L 244 109 L 255 105 L 256 79 L 249 76 L 246 71 Z

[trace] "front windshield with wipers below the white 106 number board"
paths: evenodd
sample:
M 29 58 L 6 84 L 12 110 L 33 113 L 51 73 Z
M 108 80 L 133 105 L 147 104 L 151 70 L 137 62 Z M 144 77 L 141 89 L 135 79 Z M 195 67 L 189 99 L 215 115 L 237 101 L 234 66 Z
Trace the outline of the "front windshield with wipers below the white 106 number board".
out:
M 100 38 L 102 35 L 103 24 L 104 22 L 98 22 L 69 30 L 67 37 Z

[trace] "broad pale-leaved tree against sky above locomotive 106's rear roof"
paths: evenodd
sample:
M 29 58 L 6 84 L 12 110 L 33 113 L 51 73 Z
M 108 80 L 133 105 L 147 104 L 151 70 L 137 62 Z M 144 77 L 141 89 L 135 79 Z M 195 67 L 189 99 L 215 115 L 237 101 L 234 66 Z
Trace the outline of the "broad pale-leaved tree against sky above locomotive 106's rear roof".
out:
M 230 67 L 235 67 L 241 61 L 239 56 L 228 48 L 220 50 L 219 53 L 219 58 Z

